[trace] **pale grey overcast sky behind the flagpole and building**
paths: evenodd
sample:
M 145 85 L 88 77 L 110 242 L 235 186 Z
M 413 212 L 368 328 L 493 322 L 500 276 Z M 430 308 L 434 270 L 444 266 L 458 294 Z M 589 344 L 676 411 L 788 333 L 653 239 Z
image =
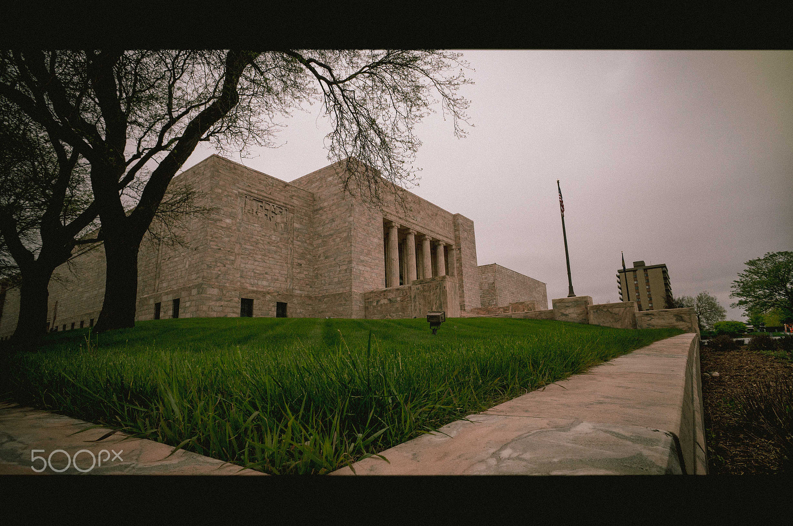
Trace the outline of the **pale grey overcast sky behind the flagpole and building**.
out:
M 745 261 L 793 250 L 793 51 L 462 52 L 473 128 L 424 120 L 410 190 L 473 219 L 479 265 L 545 282 L 549 307 L 568 294 L 559 179 L 577 295 L 619 301 L 623 250 L 743 319 Z M 281 147 L 231 158 L 283 181 L 328 165 L 320 105 L 283 124 Z

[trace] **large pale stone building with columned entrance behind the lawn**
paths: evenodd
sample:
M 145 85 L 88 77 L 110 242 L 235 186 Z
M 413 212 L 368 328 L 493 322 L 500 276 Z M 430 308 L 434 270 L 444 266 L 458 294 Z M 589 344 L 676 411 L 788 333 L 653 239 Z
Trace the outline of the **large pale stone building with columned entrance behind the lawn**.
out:
M 372 208 L 343 192 L 336 165 L 285 182 L 211 155 L 174 177 L 213 208 L 187 220 L 181 245 L 144 239 L 136 319 L 269 316 L 450 318 L 527 302 L 546 284 L 477 265 L 473 221 L 405 192 L 407 208 Z M 48 328 L 93 326 L 102 310 L 101 243 L 56 270 Z M 13 334 L 19 294 L 0 294 L 0 337 Z

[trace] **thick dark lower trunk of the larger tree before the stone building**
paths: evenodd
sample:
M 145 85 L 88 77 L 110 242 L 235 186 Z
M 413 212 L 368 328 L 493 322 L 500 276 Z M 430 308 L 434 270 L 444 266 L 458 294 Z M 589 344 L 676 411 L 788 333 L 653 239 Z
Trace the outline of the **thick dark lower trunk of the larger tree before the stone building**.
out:
M 135 326 L 140 240 L 117 237 L 118 241 L 105 239 L 105 300 L 95 328 L 98 333 Z

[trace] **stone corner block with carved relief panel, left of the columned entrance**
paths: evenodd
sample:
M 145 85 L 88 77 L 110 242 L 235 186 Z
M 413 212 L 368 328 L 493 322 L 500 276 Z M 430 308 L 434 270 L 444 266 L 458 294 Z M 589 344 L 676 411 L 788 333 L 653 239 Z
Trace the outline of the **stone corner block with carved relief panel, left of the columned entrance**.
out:
M 240 298 L 267 315 L 275 295 L 288 312 L 308 311 L 300 293 L 311 290 L 310 192 L 217 155 L 174 182 L 203 192 L 215 209 L 190 218 L 184 246 L 141 245 L 137 319 L 154 318 L 155 303 L 170 318 L 175 298 L 180 318 L 239 316 Z

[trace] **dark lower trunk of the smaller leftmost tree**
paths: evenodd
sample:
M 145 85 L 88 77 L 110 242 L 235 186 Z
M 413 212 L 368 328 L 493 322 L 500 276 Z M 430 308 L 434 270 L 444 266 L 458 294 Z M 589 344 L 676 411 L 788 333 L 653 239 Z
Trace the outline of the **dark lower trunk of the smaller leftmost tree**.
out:
M 19 287 L 19 318 L 13 332 L 13 344 L 17 349 L 36 350 L 47 334 L 47 302 L 49 280 L 54 268 L 32 265 L 22 274 Z

